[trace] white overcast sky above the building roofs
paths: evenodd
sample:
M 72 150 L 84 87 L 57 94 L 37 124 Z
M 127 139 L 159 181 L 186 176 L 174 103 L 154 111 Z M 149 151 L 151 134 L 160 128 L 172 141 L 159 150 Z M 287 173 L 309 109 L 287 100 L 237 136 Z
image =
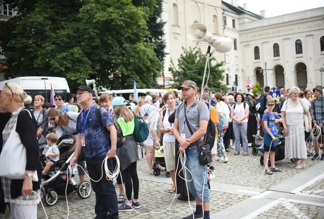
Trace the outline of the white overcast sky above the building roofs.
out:
M 248 4 L 249 11 L 256 14 L 265 10 L 266 18 L 324 6 L 324 0 L 238 0 L 238 6 L 243 7 L 244 3 Z

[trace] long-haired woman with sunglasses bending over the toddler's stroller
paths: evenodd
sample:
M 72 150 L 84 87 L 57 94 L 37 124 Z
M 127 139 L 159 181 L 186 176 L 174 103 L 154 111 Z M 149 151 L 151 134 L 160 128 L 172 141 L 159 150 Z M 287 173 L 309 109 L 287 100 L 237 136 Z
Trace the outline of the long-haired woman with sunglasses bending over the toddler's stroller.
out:
M 53 131 L 61 138 L 63 135 L 74 135 L 79 113 L 66 112 L 61 114 L 58 109 L 52 108 L 48 111 L 48 117 L 54 123 Z M 78 165 L 86 169 L 84 161 L 78 161 Z M 80 182 L 84 180 L 85 172 L 77 166 Z

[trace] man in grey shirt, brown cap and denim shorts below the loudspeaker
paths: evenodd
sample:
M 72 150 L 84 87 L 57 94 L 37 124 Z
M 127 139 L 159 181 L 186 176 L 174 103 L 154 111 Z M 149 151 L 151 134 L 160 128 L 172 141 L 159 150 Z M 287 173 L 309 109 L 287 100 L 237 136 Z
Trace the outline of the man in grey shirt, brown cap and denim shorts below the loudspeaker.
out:
M 197 84 L 194 81 L 184 81 L 182 85 L 178 87 L 178 90 L 182 90 L 182 97 L 186 101 L 184 102 L 185 105 L 183 107 L 178 107 L 176 110 L 173 133 L 179 141 L 179 151 L 181 153 L 186 153 L 187 160 L 185 166 L 190 170 L 191 174 L 189 171 L 185 173 L 185 169 L 183 169 L 183 172 L 184 176 L 187 175 L 188 190 L 196 199 L 196 211 L 194 217 L 191 214 L 187 217 L 183 217 L 183 219 L 209 219 L 210 196 L 207 177 L 204 177 L 206 168 L 204 165 L 200 165 L 197 151 L 197 146 L 203 143 L 203 136 L 207 131 L 209 109 L 206 104 L 197 99 L 196 94 L 198 89 Z M 199 113 L 198 107 L 200 104 L 203 105 L 201 106 L 201 112 Z M 185 114 L 192 129 L 192 135 L 185 121 Z

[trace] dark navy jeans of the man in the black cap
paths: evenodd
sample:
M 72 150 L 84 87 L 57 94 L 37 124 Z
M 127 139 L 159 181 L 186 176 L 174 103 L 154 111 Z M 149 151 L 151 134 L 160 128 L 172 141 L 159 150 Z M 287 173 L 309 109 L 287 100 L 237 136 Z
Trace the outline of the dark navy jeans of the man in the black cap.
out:
M 98 180 L 102 174 L 101 166 L 105 157 L 89 159 L 86 157 L 87 170 L 89 176 L 93 180 Z M 112 172 L 112 159 L 109 160 L 108 168 Z M 106 179 L 105 169 L 103 168 L 103 176 L 99 182 L 91 181 L 92 189 L 96 193 L 95 213 L 98 218 L 119 219 L 118 217 L 118 202 L 116 190 L 113 182 Z

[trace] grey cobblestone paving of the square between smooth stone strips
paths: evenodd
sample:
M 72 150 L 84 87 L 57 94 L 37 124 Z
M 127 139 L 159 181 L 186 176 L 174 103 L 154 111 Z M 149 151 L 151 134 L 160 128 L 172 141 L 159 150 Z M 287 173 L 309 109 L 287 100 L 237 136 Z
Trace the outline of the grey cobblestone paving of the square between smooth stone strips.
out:
M 258 155 L 254 156 L 251 153 L 252 148 L 249 147 L 249 156 L 234 156 L 234 150 L 228 153 L 229 162 L 222 163 L 216 162 L 215 169 L 215 182 L 228 184 L 228 185 L 239 185 L 243 187 L 252 187 L 255 185 L 259 177 L 263 172 L 263 166 L 260 165 L 260 152 Z M 143 153 L 145 150 L 143 149 Z M 141 150 L 139 149 L 139 154 L 141 157 Z M 290 160 L 277 161 L 276 166 L 283 170 L 282 173 L 276 173 L 275 176 L 263 175 L 256 185 L 259 189 L 269 189 L 274 185 L 277 185 L 284 180 L 301 173 L 315 164 L 319 164 L 321 161 L 311 161 L 307 159 L 307 168 L 303 170 L 295 170 L 290 168 Z M 137 164 L 138 172 L 148 173 L 148 166 L 146 163 L 145 155 L 144 159 L 140 159 Z M 320 173 L 319 173 L 320 174 Z M 139 191 L 139 201 L 141 203 L 141 208 L 138 209 L 140 213 L 147 212 L 160 212 L 165 210 L 174 198 L 174 194 L 169 194 L 168 189 L 171 187 L 171 179 L 166 178 L 164 174 L 157 177 L 150 177 L 149 181 L 145 178 L 140 179 L 140 191 Z M 87 176 L 86 176 L 87 178 Z M 78 182 L 77 175 L 74 177 L 75 181 Z M 213 188 L 212 188 L 213 189 Z M 116 188 L 117 194 L 119 193 L 118 187 Z M 302 193 L 313 194 L 317 196 L 324 196 L 324 178 L 313 183 L 307 188 L 301 191 Z M 233 206 L 242 202 L 243 200 L 248 201 L 249 196 L 236 195 L 229 192 L 217 192 L 210 191 L 211 202 L 210 211 L 211 214 L 224 211 L 226 208 Z M 323 199 L 324 201 L 324 199 Z M 92 192 L 88 199 L 80 199 L 76 193 L 68 195 L 69 202 L 69 218 L 93 218 L 95 216 L 94 205 L 95 205 L 95 193 Z M 195 207 L 194 202 L 191 202 L 193 208 Z M 51 219 L 63 219 L 67 216 L 67 205 L 65 196 L 60 196 L 56 205 L 48 207 L 44 204 L 48 218 Z M 273 205 L 272 205 L 273 206 Z M 282 201 L 263 212 L 260 213 L 255 218 L 324 218 L 324 207 L 318 207 L 313 205 L 305 205 L 291 202 Z M 223 212 L 222 211 L 222 212 Z M 254 210 L 252 210 L 254 211 Z M 220 212 L 220 213 L 222 213 Z M 177 198 L 174 200 L 172 206 L 165 213 L 161 214 L 148 214 L 139 215 L 135 212 L 122 212 L 120 213 L 121 219 L 130 218 L 182 218 L 183 216 L 189 215 L 191 213 L 188 202 L 179 201 Z M 8 212 L 6 213 L 7 217 Z M 238 212 L 239 215 L 239 212 Z M 38 206 L 38 218 L 45 218 L 43 209 L 41 205 Z M 239 217 L 240 218 L 240 217 Z M 251 217 L 252 218 L 252 217 Z M 226 217 L 224 217 L 226 219 Z M 231 219 L 231 218 L 229 218 Z

